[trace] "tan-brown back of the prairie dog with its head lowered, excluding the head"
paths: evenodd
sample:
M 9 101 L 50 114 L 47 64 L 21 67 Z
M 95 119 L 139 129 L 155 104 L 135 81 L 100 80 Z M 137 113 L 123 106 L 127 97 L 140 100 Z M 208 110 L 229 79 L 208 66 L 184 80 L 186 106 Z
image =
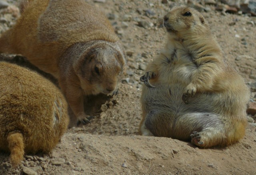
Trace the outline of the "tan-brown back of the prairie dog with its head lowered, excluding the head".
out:
M 119 41 L 108 19 L 84 0 L 25 2 L 16 25 L 2 34 L 0 52 L 21 54 L 58 78 L 59 59 L 74 43 Z

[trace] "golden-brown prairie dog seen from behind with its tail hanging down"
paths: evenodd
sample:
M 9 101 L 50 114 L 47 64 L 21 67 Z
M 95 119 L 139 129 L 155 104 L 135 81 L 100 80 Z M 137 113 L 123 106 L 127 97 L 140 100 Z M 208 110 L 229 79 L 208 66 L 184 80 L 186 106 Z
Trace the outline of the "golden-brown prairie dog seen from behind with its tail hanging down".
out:
M 68 105 L 49 80 L 0 62 L 0 150 L 15 167 L 25 153 L 50 152 L 68 128 Z

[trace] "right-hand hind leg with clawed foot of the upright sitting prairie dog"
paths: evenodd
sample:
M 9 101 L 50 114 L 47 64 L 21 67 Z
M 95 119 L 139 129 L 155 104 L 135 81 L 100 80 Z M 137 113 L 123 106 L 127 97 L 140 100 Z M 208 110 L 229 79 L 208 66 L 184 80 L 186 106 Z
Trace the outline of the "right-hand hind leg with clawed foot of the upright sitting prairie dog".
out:
M 223 116 L 204 112 L 184 114 L 176 120 L 175 138 L 187 140 L 191 137 L 192 144 L 205 148 L 225 145 L 227 132 L 232 132 L 232 128 L 227 128 L 221 118 Z

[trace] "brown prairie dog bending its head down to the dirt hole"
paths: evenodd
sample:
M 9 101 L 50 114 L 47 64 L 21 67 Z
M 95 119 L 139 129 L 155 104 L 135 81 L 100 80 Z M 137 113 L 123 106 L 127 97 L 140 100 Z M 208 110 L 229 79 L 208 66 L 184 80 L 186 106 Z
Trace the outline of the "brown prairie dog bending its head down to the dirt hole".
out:
M 84 97 L 117 89 L 125 54 L 108 19 L 85 0 L 23 1 L 0 52 L 15 53 L 54 75 L 78 123 L 90 122 Z

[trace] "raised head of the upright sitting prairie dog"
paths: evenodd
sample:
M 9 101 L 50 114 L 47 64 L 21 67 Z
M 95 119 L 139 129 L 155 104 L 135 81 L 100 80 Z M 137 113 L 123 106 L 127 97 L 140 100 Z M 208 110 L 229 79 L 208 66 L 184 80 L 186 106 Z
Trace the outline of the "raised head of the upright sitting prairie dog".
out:
M 176 6 L 162 18 L 162 24 L 172 35 L 184 35 L 209 31 L 207 22 L 200 12 L 190 7 Z

